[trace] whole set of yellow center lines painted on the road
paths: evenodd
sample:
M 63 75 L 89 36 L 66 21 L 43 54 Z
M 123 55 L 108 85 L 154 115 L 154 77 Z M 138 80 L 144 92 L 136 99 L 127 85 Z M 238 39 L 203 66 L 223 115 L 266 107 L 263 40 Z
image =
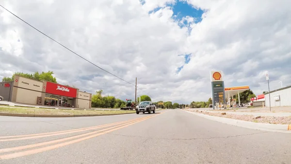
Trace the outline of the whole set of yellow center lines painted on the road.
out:
M 52 149 L 55 149 L 58 147 L 71 145 L 71 144 L 81 142 L 81 141 L 84 141 L 84 140 L 87 140 L 87 139 L 90 139 L 90 138 L 93 138 L 93 137 L 96 137 L 96 136 L 99 136 L 102 134 L 112 132 L 114 130 L 128 127 L 128 126 L 133 125 L 135 123 L 138 123 L 138 122 L 147 120 L 149 118 L 155 117 L 157 115 L 159 115 L 159 114 L 151 115 L 151 116 L 147 116 L 147 117 L 142 117 L 142 118 L 131 119 L 128 121 L 112 123 L 112 124 L 100 125 L 100 126 L 95 126 L 95 127 L 88 127 L 88 128 L 79 128 L 79 129 L 73 129 L 73 130 L 64 130 L 64 131 L 38 133 L 38 134 L 2 136 L 2 137 L 0 137 L 0 142 L 34 139 L 34 138 L 76 133 L 76 132 L 81 132 L 81 131 L 86 131 L 86 130 L 94 130 L 92 132 L 87 132 L 87 133 L 83 133 L 83 134 L 79 134 L 79 135 L 75 135 L 75 136 L 71 136 L 71 137 L 66 137 L 66 138 L 62 138 L 62 139 L 56 139 L 56 140 L 51 140 L 51 141 L 46 141 L 46 142 L 41 142 L 41 143 L 36 143 L 36 144 L 24 145 L 24 146 L 1 148 L 0 149 L 0 160 L 7 160 L 7 159 L 12 159 L 12 158 L 27 156 L 27 155 L 31 155 L 31 154 L 36 154 L 36 153 L 52 150 Z M 107 128 L 107 127 L 109 127 L 109 128 Z M 99 128 L 101 128 L 101 129 L 99 129 Z M 99 130 L 95 131 L 95 129 L 99 129 Z M 40 147 L 40 146 L 43 146 L 43 147 Z M 30 149 L 30 148 L 32 148 L 32 149 Z M 30 150 L 25 150 L 25 149 L 30 149 Z M 20 151 L 20 150 L 22 150 L 22 151 Z M 15 152 L 15 151 L 18 151 L 18 152 Z M 7 153 L 7 152 L 12 152 L 12 153 L 3 154 L 3 153 Z

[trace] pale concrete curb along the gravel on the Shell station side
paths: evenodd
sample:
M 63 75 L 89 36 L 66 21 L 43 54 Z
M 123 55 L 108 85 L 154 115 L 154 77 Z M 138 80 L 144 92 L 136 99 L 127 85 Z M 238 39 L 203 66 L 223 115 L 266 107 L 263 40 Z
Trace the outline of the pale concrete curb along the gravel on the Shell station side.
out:
M 186 112 L 192 113 L 194 115 L 207 118 L 209 120 L 217 121 L 220 123 L 233 125 L 237 127 L 243 127 L 243 128 L 251 128 L 256 130 L 265 130 L 265 131 L 275 131 L 275 132 L 285 132 L 285 133 L 291 133 L 291 125 L 278 125 L 278 124 L 265 124 L 265 123 L 253 123 L 249 121 L 242 121 L 242 120 L 235 120 L 231 118 L 223 118 L 223 117 L 216 117 L 216 116 L 210 116 L 207 114 L 200 114 L 188 110 L 184 110 Z

